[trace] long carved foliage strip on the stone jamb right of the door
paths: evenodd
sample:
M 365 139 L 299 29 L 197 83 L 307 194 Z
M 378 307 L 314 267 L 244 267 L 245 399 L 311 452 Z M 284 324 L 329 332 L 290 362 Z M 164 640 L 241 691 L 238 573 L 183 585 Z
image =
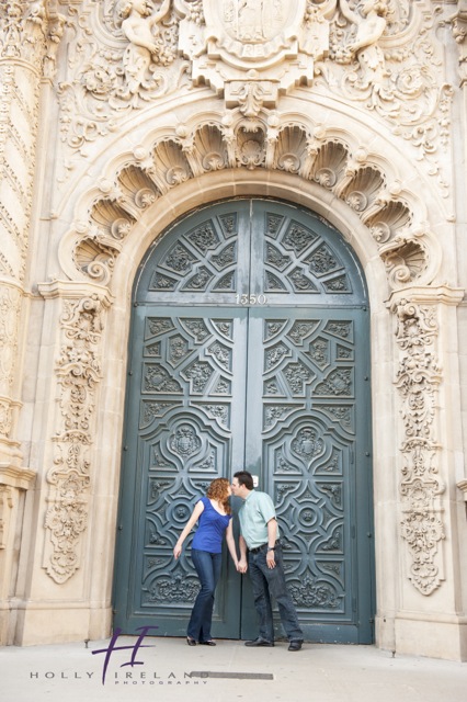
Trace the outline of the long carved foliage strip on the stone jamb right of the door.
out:
M 397 374 L 405 439 L 401 535 L 410 555 L 409 579 L 422 593 L 440 587 L 441 542 L 445 537 L 440 496 L 445 486 L 438 475 L 440 444 L 435 440 L 436 393 L 442 380 L 434 341 L 438 333 L 436 307 L 401 299 L 397 315 L 397 343 L 403 355 Z

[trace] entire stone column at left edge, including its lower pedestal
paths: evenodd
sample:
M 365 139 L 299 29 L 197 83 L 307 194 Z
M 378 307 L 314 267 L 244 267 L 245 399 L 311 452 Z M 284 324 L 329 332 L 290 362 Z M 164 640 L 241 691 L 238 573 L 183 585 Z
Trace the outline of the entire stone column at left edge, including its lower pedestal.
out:
M 39 93 L 50 78 L 62 20 L 45 0 L 0 5 L 0 644 L 8 641 L 12 540 L 34 472 L 18 442 L 26 268 Z

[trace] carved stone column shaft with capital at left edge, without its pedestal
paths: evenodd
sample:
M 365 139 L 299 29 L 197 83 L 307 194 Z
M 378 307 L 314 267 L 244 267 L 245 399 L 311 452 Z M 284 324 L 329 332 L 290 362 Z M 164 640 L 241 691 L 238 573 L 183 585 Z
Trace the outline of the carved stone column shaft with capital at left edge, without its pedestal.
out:
M 48 3 L 53 5 L 54 3 Z M 19 457 L 19 319 L 30 237 L 39 88 L 62 22 L 44 0 L 0 5 L 0 462 Z M 20 351 L 20 352 L 19 352 Z

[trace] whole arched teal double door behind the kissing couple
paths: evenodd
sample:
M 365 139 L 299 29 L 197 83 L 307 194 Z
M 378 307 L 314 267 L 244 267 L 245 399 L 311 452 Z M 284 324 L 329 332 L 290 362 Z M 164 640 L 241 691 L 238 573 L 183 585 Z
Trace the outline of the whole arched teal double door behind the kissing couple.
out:
M 148 252 L 134 293 L 115 626 L 184 635 L 198 584 L 190 540 L 178 562 L 173 546 L 209 482 L 246 467 L 276 505 L 307 639 L 372 643 L 368 340 L 358 263 L 308 211 L 224 202 Z M 213 632 L 257 633 L 248 576 L 227 554 Z

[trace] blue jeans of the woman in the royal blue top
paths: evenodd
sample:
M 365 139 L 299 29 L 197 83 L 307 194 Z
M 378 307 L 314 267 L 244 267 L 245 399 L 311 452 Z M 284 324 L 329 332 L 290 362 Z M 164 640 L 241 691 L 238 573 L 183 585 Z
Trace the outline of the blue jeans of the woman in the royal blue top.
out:
M 192 548 L 192 561 L 201 582 L 190 618 L 186 634 L 198 642 L 210 641 L 210 622 L 213 620 L 214 592 L 220 576 L 220 553 L 209 553 Z

